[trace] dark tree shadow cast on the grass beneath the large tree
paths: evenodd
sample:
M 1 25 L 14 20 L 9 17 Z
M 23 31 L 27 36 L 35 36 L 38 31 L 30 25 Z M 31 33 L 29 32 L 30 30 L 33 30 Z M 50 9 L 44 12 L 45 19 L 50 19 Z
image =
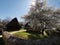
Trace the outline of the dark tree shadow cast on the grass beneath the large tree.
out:
M 29 31 L 30 35 L 28 35 L 29 39 L 43 39 L 46 38 L 44 34 L 41 34 L 41 32 L 31 32 Z

